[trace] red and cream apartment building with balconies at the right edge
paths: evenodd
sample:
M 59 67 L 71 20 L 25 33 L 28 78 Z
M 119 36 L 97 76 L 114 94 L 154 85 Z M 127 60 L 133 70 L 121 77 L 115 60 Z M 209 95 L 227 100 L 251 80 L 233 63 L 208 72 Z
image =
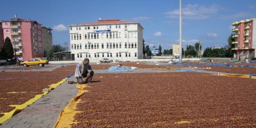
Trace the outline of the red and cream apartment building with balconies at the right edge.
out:
M 256 57 L 256 18 L 233 22 L 232 50 L 237 58 Z

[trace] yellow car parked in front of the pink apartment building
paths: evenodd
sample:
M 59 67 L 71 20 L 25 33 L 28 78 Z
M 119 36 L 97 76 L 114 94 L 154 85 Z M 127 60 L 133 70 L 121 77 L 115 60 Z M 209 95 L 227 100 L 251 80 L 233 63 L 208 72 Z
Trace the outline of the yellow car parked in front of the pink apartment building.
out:
M 28 61 L 21 62 L 20 65 L 23 65 L 24 67 L 28 67 L 30 65 L 39 65 L 43 67 L 44 65 L 48 65 L 49 62 L 47 60 L 42 60 L 41 58 L 31 58 Z

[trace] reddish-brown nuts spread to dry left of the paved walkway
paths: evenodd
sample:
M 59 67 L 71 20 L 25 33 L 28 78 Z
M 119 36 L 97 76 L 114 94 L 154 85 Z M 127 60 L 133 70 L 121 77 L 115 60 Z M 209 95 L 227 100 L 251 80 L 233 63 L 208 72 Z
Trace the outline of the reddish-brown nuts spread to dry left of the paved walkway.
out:
M 65 76 L 74 73 L 66 71 L 70 66 L 45 72 L 0 72 L 0 112 L 13 109 L 9 105 L 25 103 L 36 94 L 41 94 L 48 85 L 57 83 Z

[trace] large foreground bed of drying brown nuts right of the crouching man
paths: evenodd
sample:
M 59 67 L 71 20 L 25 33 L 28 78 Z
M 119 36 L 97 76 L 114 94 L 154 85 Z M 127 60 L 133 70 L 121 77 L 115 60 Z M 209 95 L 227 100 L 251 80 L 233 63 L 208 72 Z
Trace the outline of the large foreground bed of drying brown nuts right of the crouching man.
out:
M 255 127 L 254 79 L 195 72 L 95 74 L 72 128 Z

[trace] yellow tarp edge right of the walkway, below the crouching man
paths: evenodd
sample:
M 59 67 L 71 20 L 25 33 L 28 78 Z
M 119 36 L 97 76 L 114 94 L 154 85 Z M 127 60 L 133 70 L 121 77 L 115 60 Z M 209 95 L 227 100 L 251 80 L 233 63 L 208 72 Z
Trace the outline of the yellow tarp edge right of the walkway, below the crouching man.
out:
M 76 124 L 77 122 L 74 122 L 75 114 L 79 111 L 76 111 L 77 103 L 79 103 L 79 97 L 84 94 L 84 92 L 88 92 L 88 90 L 84 90 L 84 88 L 87 85 L 85 84 L 78 84 L 77 88 L 79 89 L 77 96 L 75 96 L 71 101 L 68 103 L 68 105 L 61 111 L 59 114 L 59 117 L 57 119 L 57 122 L 55 123 L 53 128 L 71 128 L 71 124 Z

